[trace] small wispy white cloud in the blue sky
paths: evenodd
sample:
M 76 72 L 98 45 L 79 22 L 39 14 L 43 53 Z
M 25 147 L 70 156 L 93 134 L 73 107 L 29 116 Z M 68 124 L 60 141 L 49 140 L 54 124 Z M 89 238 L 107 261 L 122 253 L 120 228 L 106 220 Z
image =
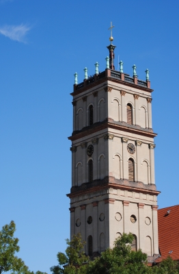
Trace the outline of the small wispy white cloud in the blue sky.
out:
M 5 25 L 0 27 L 0 34 L 18 42 L 26 43 L 25 36 L 31 27 L 28 25 Z

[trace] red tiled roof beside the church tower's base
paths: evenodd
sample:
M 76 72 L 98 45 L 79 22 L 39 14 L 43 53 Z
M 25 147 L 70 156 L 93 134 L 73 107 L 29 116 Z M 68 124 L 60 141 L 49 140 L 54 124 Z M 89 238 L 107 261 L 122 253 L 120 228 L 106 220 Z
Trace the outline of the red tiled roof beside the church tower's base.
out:
M 179 260 L 179 205 L 158 210 L 158 226 L 161 258 L 156 259 L 156 262 L 161 262 L 167 256 Z M 169 254 L 169 251 L 172 252 Z

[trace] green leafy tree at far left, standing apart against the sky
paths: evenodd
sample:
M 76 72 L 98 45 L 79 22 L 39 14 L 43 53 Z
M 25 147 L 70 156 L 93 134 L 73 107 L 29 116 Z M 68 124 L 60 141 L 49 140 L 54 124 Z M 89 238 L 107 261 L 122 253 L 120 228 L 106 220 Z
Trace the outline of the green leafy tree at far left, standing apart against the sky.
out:
M 10 271 L 12 274 L 32 274 L 23 260 L 15 256 L 19 251 L 18 238 L 14 238 L 16 225 L 11 221 L 0 231 L 0 274 Z

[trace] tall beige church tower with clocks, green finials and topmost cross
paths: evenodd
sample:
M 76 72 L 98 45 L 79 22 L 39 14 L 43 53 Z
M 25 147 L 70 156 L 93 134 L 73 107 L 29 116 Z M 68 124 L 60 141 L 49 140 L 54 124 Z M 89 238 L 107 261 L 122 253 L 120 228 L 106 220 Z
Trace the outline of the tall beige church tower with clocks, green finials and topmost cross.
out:
M 85 253 L 97 255 L 113 247 L 115 238 L 131 232 L 132 249 L 159 254 L 157 200 L 154 179 L 152 92 L 146 80 L 114 67 L 109 47 L 106 69 L 77 84 L 74 74 L 72 188 L 70 235 L 81 233 Z M 152 259 L 152 258 L 151 258 Z

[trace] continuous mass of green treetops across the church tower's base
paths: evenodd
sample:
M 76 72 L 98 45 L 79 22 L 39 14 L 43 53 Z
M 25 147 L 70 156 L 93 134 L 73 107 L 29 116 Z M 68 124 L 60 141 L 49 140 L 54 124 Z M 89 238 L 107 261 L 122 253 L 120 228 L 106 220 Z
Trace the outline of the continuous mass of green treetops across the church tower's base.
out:
M 59 264 L 51 267 L 53 274 L 179 274 L 178 262 L 170 257 L 157 266 L 148 266 L 146 253 L 131 251 L 131 233 L 117 238 L 113 249 L 106 249 L 94 260 L 85 256 L 81 234 L 66 242 L 66 253 L 57 253 Z

